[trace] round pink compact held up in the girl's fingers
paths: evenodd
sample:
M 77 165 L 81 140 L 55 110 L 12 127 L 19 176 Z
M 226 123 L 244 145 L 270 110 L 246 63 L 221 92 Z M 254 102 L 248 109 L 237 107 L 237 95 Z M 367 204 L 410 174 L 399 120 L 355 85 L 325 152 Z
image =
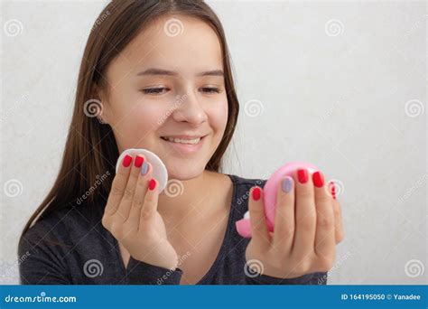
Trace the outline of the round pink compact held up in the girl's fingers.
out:
M 264 203 L 265 203 L 265 217 L 267 223 L 267 229 L 274 231 L 274 212 L 276 205 L 276 196 L 278 188 L 280 187 L 281 181 L 285 176 L 293 176 L 294 171 L 299 168 L 305 168 L 309 173 L 315 173 L 318 171 L 318 167 L 313 164 L 307 164 L 304 162 L 294 161 L 281 166 L 276 170 L 265 183 L 263 189 L 264 192 Z M 239 235 L 245 238 L 251 238 L 251 224 L 249 220 L 249 212 L 247 211 L 244 215 L 244 219 L 236 222 L 237 232 Z

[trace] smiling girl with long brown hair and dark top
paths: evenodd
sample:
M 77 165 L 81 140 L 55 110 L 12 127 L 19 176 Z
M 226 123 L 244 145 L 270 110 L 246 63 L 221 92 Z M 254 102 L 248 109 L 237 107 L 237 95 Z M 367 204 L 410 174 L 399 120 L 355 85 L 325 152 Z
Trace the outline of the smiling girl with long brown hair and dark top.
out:
M 94 108 L 95 107 L 95 108 Z M 112 1 L 89 35 L 60 173 L 23 229 L 23 284 L 325 285 L 343 238 L 321 173 L 278 191 L 220 173 L 238 100 L 218 17 L 200 1 Z M 163 160 L 153 166 L 127 148 Z M 179 193 L 171 192 L 174 182 Z M 252 239 L 235 222 L 250 211 Z

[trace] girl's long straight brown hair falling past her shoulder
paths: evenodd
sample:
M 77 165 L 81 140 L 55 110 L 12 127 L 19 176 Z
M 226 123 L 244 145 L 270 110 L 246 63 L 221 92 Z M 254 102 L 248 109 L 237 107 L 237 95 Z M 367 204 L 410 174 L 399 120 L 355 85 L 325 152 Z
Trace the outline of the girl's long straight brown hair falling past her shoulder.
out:
M 115 165 L 119 156 L 116 139 L 111 126 L 101 123 L 98 117 L 88 117 L 85 108 L 88 101 L 94 99 L 94 85 L 107 87 L 103 76 L 108 64 L 124 50 L 144 25 L 165 14 L 185 14 L 200 18 L 219 37 L 228 98 L 228 123 L 219 147 L 205 169 L 220 172 L 222 157 L 237 124 L 239 105 L 232 79 L 228 45 L 219 18 L 203 1 L 113 0 L 99 14 L 89 33 L 80 63 L 74 112 L 60 171 L 51 191 L 25 225 L 20 241 L 33 223 L 52 211 L 72 207 L 94 183 L 98 183 L 98 186 L 85 198 L 85 203 L 107 200 L 113 177 L 100 181 L 100 175 L 116 173 Z

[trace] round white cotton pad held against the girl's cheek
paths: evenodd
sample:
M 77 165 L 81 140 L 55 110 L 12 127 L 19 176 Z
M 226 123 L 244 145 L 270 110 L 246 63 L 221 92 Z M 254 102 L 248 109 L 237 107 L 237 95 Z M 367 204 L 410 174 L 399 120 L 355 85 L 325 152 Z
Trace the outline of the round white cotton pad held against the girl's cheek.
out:
M 166 183 L 168 183 L 168 171 L 166 170 L 165 164 L 163 164 L 161 158 L 159 156 L 154 155 L 151 151 L 146 149 L 126 149 L 122 154 L 119 155 L 116 163 L 116 173 L 119 169 L 119 164 L 122 162 L 125 155 L 135 155 L 142 154 L 145 159 L 152 164 L 153 166 L 153 176 L 154 179 L 159 183 L 159 193 L 163 192 L 163 189 L 166 187 Z

